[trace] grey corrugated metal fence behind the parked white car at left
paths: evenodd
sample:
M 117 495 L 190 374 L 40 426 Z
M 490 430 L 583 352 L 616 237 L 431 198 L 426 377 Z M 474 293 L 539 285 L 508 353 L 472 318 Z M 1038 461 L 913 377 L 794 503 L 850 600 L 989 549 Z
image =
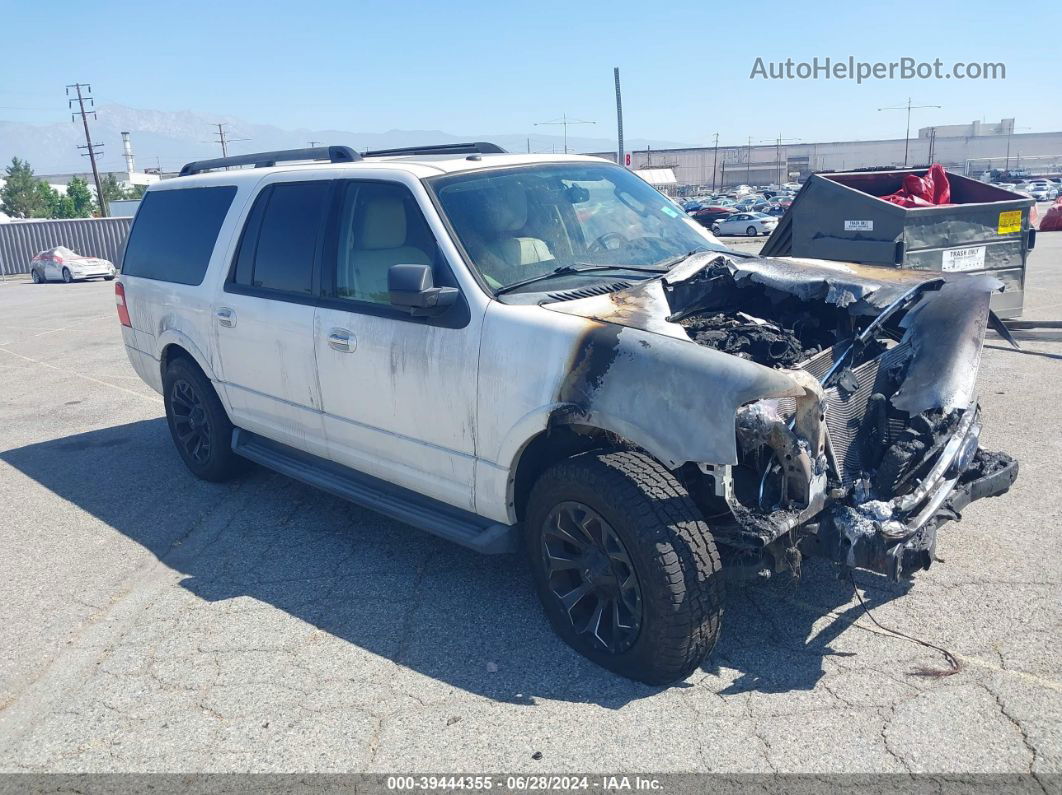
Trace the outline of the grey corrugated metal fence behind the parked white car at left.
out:
M 79 218 L 63 221 L 11 221 L 0 224 L 0 273 L 29 273 L 30 260 L 46 248 L 65 245 L 87 257 L 121 263 L 131 218 Z

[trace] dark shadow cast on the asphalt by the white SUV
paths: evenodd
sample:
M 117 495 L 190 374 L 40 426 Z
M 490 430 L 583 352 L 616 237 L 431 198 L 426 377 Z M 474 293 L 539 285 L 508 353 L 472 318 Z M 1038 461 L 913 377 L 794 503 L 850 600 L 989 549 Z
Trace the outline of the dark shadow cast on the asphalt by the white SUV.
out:
M 259 468 L 229 484 L 196 481 L 161 418 L 29 445 L 0 460 L 137 541 L 208 602 L 250 597 L 502 702 L 618 708 L 661 690 L 614 676 L 564 645 L 519 556 L 478 555 Z M 902 592 L 884 583 L 868 599 Z M 705 670 L 740 672 L 722 694 L 811 690 L 834 654 L 830 642 L 860 608 L 846 607 L 847 620 L 818 632 L 813 625 L 850 599 L 850 584 L 815 564 L 800 583 L 732 589 Z

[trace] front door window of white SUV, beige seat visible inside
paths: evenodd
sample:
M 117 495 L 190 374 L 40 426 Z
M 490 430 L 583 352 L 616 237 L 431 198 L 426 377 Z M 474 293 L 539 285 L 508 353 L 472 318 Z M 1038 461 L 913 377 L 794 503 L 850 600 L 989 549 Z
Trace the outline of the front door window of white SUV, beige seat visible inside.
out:
M 338 224 L 338 298 L 389 305 L 391 265 L 435 264 L 435 239 L 413 194 L 402 185 L 347 180 Z

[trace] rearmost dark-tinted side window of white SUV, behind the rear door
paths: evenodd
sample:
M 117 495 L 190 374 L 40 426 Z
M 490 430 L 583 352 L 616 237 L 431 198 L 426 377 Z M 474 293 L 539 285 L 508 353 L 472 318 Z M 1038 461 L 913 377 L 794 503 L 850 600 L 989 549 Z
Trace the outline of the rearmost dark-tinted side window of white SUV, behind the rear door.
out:
M 122 273 L 199 284 L 236 195 L 230 185 L 148 193 L 125 244 Z

